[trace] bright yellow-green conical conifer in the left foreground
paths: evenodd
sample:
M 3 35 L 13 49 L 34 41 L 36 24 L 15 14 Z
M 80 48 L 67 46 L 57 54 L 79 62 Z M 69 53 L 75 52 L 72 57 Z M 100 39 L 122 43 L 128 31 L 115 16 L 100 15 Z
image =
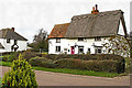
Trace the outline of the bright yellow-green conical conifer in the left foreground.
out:
M 13 61 L 11 69 L 4 74 L 2 87 L 12 88 L 36 88 L 35 73 L 31 69 L 23 56 L 20 54 L 19 59 Z

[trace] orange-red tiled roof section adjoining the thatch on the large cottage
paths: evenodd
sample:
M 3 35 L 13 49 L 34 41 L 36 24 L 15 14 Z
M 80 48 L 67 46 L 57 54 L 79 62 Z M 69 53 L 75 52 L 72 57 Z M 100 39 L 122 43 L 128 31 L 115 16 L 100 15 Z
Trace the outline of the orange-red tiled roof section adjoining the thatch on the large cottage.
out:
M 65 24 L 56 24 L 51 34 L 48 35 L 48 38 L 52 37 L 64 37 L 67 31 L 69 23 L 65 23 Z

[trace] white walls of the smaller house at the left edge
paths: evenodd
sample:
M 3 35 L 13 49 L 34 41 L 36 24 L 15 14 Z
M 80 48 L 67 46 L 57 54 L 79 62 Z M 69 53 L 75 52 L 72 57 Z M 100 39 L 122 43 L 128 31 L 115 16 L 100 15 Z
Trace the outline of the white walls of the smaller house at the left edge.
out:
M 0 50 L 0 53 L 11 52 L 11 46 L 14 44 L 14 40 L 10 40 L 10 43 L 7 43 L 7 38 L 0 38 L 0 43 L 3 45 L 4 50 Z M 18 40 L 19 48 L 18 51 L 26 51 L 28 42 Z

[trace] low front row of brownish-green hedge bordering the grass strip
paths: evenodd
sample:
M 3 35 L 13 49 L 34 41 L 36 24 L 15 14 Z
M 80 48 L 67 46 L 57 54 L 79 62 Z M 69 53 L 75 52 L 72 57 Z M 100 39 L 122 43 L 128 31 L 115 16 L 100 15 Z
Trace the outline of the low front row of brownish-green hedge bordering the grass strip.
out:
M 61 58 L 57 61 L 44 57 L 34 57 L 29 62 L 32 66 L 41 66 L 47 68 L 72 68 L 80 70 L 123 73 L 118 61 L 82 61 L 74 58 Z

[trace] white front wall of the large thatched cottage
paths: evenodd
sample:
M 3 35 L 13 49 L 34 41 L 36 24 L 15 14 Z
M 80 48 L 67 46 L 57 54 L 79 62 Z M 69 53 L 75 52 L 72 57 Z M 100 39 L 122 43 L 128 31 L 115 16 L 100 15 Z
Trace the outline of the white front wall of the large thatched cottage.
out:
M 75 44 L 77 44 L 78 46 L 84 46 L 85 54 L 87 54 L 88 48 L 90 48 L 91 51 L 90 54 L 95 54 L 94 43 L 97 46 L 102 46 L 102 44 L 106 42 L 108 42 L 108 37 L 101 37 L 101 41 L 95 41 L 95 38 L 85 38 L 84 41 L 78 41 L 78 38 L 61 38 L 61 43 L 56 43 L 56 38 L 50 38 L 48 54 L 63 54 L 65 53 L 64 48 L 67 48 L 67 54 L 70 54 L 70 47 L 75 46 Z M 55 52 L 56 46 L 61 46 L 59 53 Z M 78 54 L 78 46 L 75 47 L 75 54 Z M 102 48 L 102 51 L 105 51 L 105 48 Z

